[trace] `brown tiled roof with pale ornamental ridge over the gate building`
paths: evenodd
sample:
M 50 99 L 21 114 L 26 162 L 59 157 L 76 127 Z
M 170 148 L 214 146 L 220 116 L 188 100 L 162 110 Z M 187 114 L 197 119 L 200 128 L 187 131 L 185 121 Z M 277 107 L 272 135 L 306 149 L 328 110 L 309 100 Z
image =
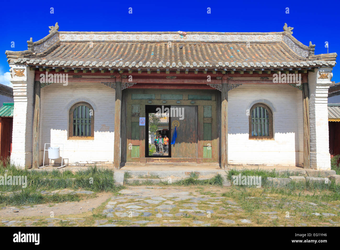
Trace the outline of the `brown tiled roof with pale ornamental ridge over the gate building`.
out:
M 67 68 L 305 68 L 335 65 L 289 32 L 58 32 L 6 51 L 10 64 Z

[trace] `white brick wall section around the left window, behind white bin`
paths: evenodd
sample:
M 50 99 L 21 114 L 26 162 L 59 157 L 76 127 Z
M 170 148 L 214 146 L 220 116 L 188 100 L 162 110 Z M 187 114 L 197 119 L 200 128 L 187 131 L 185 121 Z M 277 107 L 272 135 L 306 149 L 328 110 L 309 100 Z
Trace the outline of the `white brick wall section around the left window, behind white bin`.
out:
M 83 100 L 94 108 L 94 140 L 68 140 L 69 108 Z M 101 83 L 55 83 L 41 89 L 40 159 L 45 143 L 64 144 L 65 162 L 113 162 L 115 90 Z M 47 152 L 45 161 L 48 160 Z

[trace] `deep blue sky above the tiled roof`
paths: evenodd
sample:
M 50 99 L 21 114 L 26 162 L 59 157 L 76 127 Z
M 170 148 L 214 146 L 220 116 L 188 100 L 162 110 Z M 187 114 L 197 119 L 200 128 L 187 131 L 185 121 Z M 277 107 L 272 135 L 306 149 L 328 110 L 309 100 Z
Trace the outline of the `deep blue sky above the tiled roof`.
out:
M 329 53 L 338 53 L 339 5 L 338 1 L 5 1 L 0 10 L 0 83 L 10 85 L 5 51 L 27 50 L 26 41 L 45 37 L 55 22 L 59 31 L 185 32 L 279 32 L 286 22 L 294 27 L 297 40 L 316 45 L 315 54 L 327 53 L 325 41 Z M 340 82 L 339 73 L 335 66 L 332 81 Z

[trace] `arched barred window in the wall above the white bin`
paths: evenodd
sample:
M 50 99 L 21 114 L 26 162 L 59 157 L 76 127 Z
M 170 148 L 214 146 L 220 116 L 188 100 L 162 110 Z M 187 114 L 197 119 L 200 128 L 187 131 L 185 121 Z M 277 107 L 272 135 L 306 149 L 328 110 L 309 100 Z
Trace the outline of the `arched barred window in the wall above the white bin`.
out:
M 74 104 L 69 111 L 69 139 L 94 139 L 94 111 L 87 102 Z

